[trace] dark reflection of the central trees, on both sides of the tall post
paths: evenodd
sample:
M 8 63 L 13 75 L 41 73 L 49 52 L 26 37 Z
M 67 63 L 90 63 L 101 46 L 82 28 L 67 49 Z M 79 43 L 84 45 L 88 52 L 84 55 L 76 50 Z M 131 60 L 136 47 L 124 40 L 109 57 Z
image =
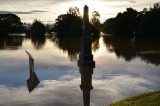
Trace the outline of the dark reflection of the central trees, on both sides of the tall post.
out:
M 77 60 L 80 53 L 81 37 L 57 37 L 52 36 L 51 41 L 65 53 L 71 61 Z M 96 51 L 99 48 L 99 37 L 92 39 L 92 49 Z

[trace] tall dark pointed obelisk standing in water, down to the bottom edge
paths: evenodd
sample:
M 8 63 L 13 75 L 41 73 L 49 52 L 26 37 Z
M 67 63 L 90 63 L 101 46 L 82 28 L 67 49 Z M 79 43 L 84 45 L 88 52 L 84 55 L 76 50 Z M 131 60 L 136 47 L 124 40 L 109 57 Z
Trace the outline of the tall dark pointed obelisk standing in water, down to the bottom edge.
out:
M 78 60 L 78 67 L 81 73 L 80 88 L 83 91 L 84 106 L 90 106 L 90 91 L 92 87 L 92 74 L 95 68 L 93 55 L 91 50 L 91 39 L 89 33 L 89 15 L 88 6 L 84 7 L 83 26 L 82 26 L 82 41 L 81 51 Z

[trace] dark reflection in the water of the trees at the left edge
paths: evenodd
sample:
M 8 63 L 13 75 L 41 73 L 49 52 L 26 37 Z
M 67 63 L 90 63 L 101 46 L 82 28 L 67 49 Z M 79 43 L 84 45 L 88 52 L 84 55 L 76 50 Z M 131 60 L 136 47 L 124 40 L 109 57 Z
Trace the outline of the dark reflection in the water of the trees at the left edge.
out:
M 22 46 L 23 40 L 22 36 L 0 37 L 0 49 L 18 49 Z

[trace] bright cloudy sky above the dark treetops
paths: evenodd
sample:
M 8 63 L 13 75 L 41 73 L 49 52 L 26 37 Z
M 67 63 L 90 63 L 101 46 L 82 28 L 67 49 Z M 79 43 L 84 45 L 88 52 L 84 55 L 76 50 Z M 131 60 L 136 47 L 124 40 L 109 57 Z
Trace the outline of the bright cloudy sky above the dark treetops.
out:
M 34 19 L 53 23 L 58 15 L 67 13 L 69 7 L 77 6 L 82 14 L 83 6 L 87 4 L 90 14 L 98 11 L 101 22 L 104 22 L 127 7 L 140 11 L 156 2 L 160 0 L 0 0 L 0 14 L 15 13 L 27 23 Z

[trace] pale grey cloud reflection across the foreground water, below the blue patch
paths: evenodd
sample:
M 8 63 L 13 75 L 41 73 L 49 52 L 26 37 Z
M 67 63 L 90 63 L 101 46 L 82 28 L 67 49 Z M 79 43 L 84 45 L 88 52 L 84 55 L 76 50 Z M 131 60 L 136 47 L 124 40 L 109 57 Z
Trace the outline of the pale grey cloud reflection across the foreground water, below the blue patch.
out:
M 66 81 L 65 77 L 61 81 L 41 81 L 41 84 L 31 94 L 24 86 L 10 88 L 0 85 L 0 105 L 82 106 L 82 92 L 79 88 L 80 78 L 73 78 L 68 75 L 66 79 L 70 78 L 71 80 Z M 128 75 L 112 77 L 105 80 L 93 80 L 94 89 L 91 91 L 91 104 L 93 106 L 108 104 L 126 96 L 151 90 L 144 85 L 150 85 L 152 82 L 143 78 L 133 78 Z

